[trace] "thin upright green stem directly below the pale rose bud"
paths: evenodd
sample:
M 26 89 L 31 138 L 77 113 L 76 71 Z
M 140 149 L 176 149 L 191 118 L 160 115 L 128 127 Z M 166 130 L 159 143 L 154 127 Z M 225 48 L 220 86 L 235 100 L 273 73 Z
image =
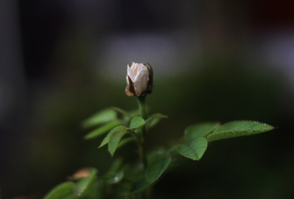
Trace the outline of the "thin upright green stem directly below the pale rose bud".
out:
M 139 105 L 140 116 L 143 119 L 146 119 L 145 97 L 146 96 L 142 96 L 142 95 L 137 97 L 138 105 Z M 147 157 L 146 157 L 146 151 L 145 151 L 145 136 L 146 136 L 145 126 L 143 126 L 141 128 L 141 133 L 142 133 L 142 139 L 141 139 L 141 155 L 142 155 L 142 161 L 143 161 L 144 169 L 146 169 L 147 168 Z

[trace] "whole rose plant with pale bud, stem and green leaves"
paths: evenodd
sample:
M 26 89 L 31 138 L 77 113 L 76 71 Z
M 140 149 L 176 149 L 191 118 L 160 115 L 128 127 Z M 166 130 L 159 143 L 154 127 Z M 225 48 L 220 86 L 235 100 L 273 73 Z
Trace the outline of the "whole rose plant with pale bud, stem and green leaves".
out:
M 149 198 L 152 187 L 171 169 L 171 165 L 175 165 L 177 156 L 200 160 L 211 141 L 258 134 L 275 128 L 253 121 L 193 124 L 185 129 L 183 138 L 177 144 L 169 148 L 161 146 L 147 153 L 145 137 L 148 131 L 167 116 L 155 113 L 147 117 L 145 99 L 153 88 L 153 70 L 149 63 L 146 64 L 128 66 L 126 94 L 137 97 L 138 110 L 111 107 L 83 122 L 84 128 L 97 127 L 85 139 L 106 134 L 98 148 L 101 150 L 107 145 L 111 156 L 121 146 L 136 142 L 138 161 L 131 164 L 117 158 L 103 175 L 99 175 L 96 168 L 81 169 L 71 176 L 69 182 L 51 190 L 45 199 Z

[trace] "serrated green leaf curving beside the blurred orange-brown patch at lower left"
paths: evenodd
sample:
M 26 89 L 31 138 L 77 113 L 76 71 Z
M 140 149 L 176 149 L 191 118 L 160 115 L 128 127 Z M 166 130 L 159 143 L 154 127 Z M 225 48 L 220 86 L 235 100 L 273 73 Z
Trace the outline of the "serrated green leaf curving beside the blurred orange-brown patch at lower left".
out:
M 86 178 L 82 178 L 74 186 L 74 194 L 77 196 L 81 196 L 86 191 L 86 189 L 92 183 L 93 179 L 97 174 L 96 168 L 88 168 L 88 171 L 89 176 Z

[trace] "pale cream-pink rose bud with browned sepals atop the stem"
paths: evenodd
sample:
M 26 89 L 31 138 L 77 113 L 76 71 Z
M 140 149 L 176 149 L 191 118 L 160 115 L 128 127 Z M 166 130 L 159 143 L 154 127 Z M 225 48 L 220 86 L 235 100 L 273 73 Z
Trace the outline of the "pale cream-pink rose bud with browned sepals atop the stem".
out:
M 147 62 L 146 62 L 147 63 Z M 143 63 L 134 63 L 127 69 L 126 94 L 128 96 L 140 96 L 151 93 L 153 88 L 153 70 L 149 63 L 146 66 Z

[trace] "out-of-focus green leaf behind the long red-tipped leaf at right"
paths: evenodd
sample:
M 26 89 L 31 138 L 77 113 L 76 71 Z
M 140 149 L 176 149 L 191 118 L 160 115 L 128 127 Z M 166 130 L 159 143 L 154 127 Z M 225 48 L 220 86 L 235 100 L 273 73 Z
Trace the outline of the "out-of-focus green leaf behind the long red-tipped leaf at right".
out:
M 220 123 L 206 122 L 200 124 L 193 124 L 185 129 L 184 136 L 187 141 L 195 141 L 200 137 L 205 137 L 216 129 Z

